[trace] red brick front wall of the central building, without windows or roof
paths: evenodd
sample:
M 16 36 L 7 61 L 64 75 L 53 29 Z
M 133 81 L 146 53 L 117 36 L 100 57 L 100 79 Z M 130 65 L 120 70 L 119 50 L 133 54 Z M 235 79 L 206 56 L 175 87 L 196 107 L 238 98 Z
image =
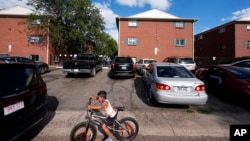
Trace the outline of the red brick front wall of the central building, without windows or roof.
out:
M 128 46 L 127 38 L 139 38 L 139 44 Z M 176 47 L 174 39 L 187 40 L 185 47 Z M 171 21 L 139 21 L 139 26 L 129 27 L 127 20 L 119 24 L 118 55 L 130 55 L 138 58 L 154 58 L 162 61 L 167 56 L 193 57 L 193 23 L 186 23 L 184 29 L 176 29 Z M 155 48 L 159 51 L 155 54 Z

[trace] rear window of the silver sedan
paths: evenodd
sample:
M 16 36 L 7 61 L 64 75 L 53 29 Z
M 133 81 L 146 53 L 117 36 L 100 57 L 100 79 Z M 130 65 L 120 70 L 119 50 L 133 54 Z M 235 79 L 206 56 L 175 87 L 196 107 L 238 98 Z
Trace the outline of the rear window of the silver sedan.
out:
M 158 66 L 158 77 L 193 78 L 194 76 L 182 66 Z

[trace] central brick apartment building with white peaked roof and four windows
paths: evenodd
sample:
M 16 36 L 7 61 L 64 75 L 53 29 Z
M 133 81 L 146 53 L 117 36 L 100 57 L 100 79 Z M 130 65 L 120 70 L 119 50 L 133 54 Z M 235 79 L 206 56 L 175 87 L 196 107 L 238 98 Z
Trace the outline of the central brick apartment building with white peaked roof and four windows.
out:
M 152 9 L 129 17 L 117 17 L 118 55 L 154 58 L 194 57 L 194 22 Z

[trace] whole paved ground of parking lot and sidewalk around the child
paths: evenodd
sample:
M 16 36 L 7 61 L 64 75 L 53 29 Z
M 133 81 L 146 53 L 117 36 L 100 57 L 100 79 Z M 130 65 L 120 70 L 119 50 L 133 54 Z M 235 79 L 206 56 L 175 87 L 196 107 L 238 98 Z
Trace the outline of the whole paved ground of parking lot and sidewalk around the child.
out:
M 114 105 L 122 103 L 127 107 L 120 117 L 136 118 L 140 131 L 135 141 L 228 141 L 230 125 L 250 124 L 250 108 L 224 102 L 212 94 L 204 106 L 150 105 L 143 95 L 139 77 L 110 80 L 106 79 L 107 75 L 108 70 L 103 70 L 94 78 L 65 78 L 60 68 L 43 75 L 48 85 L 49 114 L 29 138 L 68 141 L 72 127 L 84 121 L 82 103 L 86 101 L 81 97 L 89 97 L 97 91 L 91 88 L 96 87 L 110 90 Z M 102 140 L 101 134 L 99 140 Z

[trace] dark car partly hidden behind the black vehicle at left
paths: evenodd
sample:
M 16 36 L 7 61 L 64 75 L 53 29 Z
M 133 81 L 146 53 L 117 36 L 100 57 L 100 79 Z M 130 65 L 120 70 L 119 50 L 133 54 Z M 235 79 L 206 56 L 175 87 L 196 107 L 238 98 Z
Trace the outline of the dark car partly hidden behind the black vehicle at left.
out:
M 34 61 L 26 57 L 20 57 L 20 56 L 5 56 L 0 57 L 0 61 L 4 62 L 22 62 L 22 63 L 32 63 L 35 64 L 39 73 L 44 74 L 49 70 L 49 65 L 45 62 L 40 61 Z

